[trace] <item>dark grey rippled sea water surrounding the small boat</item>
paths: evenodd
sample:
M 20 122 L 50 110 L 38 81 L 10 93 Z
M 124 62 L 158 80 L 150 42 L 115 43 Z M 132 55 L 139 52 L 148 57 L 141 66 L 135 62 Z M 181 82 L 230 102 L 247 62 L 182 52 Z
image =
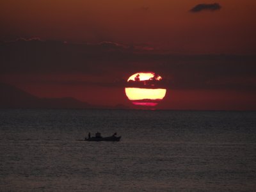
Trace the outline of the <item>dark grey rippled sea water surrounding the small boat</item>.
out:
M 0 191 L 255 191 L 255 117 L 1 109 Z M 97 131 L 122 139 L 81 141 Z

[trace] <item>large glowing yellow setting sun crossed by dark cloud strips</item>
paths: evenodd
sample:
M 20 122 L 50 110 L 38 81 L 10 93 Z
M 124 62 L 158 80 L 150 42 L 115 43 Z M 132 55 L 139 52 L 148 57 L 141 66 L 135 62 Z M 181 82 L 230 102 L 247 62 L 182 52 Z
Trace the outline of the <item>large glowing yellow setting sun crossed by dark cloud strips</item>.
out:
M 127 80 L 125 94 L 132 104 L 156 106 L 166 95 L 163 78 L 154 72 L 138 72 Z

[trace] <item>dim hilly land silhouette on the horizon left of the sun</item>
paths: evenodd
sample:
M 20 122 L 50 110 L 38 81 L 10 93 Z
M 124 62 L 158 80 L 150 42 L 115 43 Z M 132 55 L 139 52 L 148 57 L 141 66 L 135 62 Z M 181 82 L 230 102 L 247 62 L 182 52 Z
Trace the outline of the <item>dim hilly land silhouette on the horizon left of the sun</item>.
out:
M 0 108 L 128 109 L 127 106 L 96 106 L 72 97 L 39 98 L 10 84 L 0 83 Z

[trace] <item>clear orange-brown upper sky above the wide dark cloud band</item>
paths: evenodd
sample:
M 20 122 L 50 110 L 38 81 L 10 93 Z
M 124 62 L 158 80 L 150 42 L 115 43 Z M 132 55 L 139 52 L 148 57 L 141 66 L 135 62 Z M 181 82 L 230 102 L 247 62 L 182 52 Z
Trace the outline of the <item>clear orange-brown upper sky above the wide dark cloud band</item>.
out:
M 221 10 L 188 12 L 211 1 L 8 0 L 1 38 L 148 44 L 170 52 L 255 54 L 256 1 L 220 0 Z

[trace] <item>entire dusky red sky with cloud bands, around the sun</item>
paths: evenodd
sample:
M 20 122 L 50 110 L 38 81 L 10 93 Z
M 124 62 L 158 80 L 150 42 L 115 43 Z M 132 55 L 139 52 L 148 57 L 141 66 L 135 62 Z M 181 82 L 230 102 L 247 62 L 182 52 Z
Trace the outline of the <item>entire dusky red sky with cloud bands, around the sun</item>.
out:
M 256 1 L 2 1 L 0 81 L 39 97 L 129 105 L 154 71 L 164 109 L 256 109 Z M 35 39 L 36 37 L 36 39 Z

